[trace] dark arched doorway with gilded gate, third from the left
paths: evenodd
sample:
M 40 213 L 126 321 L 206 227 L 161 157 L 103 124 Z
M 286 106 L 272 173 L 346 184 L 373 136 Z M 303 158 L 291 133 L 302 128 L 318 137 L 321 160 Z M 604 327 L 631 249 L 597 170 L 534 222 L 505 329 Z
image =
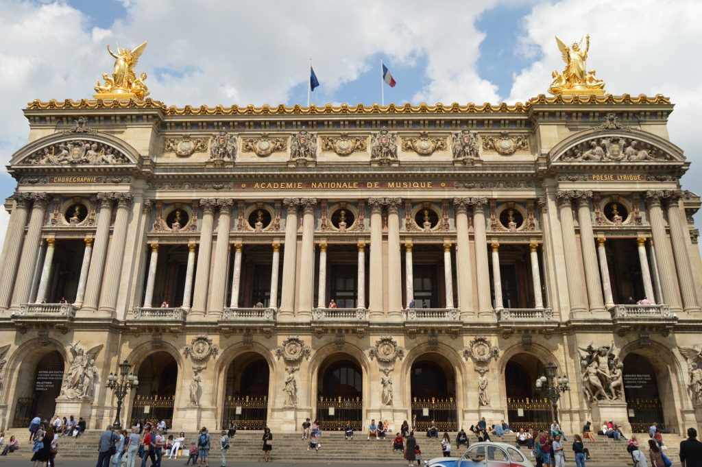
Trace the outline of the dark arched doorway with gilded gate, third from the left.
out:
M 227 368 L 222 428 L 237 423 L 239 430 L 267 426 L 270 367 L 262 355 L 244 353 Z

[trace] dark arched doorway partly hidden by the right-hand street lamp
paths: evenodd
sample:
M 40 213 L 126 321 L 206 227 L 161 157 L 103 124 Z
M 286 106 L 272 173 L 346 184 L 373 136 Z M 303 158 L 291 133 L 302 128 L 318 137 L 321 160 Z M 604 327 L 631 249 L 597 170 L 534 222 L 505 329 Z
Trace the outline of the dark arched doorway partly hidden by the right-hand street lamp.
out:
M 505 365 L 507 418 L 512 430 L 550 426 L 550 402 L 536 392 L 536 379 L 545 374 L 543 362 L 530 353 L 518 353 Z

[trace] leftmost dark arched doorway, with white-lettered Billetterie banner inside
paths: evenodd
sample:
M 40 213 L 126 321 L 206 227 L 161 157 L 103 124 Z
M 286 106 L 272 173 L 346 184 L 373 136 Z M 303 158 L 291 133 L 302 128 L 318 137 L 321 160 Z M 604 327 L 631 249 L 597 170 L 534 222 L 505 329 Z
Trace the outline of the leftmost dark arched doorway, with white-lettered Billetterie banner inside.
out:
M 22 360 L 15 388 L 13 426 L 25 428 L 34 416 L 51 419 L 61 393 L 65 362 L 56 350 Z M 31 375 L 25 378 L 24 375 Z

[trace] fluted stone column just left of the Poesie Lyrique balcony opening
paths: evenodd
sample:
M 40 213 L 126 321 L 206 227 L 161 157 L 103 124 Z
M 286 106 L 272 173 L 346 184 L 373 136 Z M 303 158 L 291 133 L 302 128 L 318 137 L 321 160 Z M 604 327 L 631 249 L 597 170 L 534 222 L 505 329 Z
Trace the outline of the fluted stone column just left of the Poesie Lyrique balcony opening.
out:
M 578 225 L 580 226 L 580 243 L 585 265 L 585 283 L 588 286 L 588 302 L 590 313 L 603 313 L 602 288 L 599 272 L 597 271 L 597 252 L 595 251 L 595 235 L 592 234 L 592 218 L 590 218 L 591 191 L 578 192 Z

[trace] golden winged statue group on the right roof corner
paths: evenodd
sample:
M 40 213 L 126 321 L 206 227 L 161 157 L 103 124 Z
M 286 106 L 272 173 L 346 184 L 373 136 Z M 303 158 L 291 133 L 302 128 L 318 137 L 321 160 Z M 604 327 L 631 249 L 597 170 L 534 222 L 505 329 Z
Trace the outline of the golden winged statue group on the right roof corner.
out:
M 587 71 L 585 67 L 590 50 L 590 35 L 588 34 L 585 38 L 585 50 L 583 50 L 583 39 L 580 42 L 574 42 L 569 47 L 556 36 L 556 44 L 558 44 L 566 67 L 561 73 L 553 71 L 551 74 L 553 81 L 548 92 L 564 96 L 587 96 L 590 94 L 602 96 L 604 94 L 604 81 L 595 77 L 595 70 Z

